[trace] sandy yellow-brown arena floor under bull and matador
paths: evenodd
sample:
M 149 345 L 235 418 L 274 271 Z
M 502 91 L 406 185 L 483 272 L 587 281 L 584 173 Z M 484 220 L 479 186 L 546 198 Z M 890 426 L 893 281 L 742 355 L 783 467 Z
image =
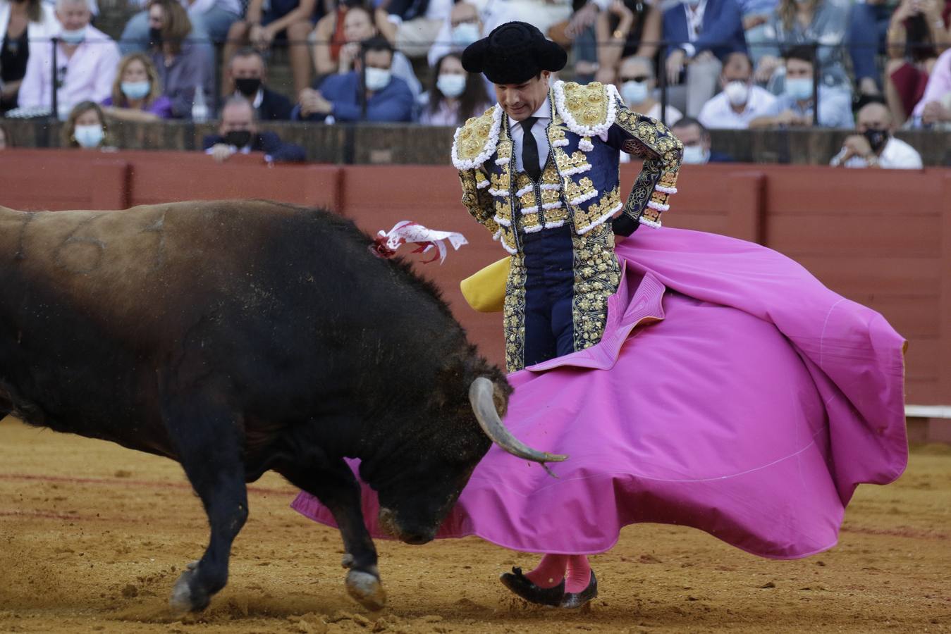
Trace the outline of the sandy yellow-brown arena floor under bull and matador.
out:
M 530 606 L 497 581 L 534 555 L 477 539 L 378 542 L 389 605 L 342 585 L 340 538 L 288 508 L 268 474 L 200 615 L 173 616 L 172 583 L 206 523 L 178 466 L 106 442 L 0 423 L 0 632 L 951 632 L 951 449 L 913 451 L 888 487 L 860 487 L 837 548 L 772 562 L 706 533 L 625 529 L 593 558 L 584 612 Z

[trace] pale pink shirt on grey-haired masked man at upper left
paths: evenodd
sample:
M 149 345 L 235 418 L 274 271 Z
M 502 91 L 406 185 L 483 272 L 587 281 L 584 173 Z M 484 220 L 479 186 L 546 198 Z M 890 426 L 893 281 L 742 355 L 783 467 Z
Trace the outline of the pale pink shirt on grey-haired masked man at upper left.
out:
M 52 107 L 52 57 L 49 42 L 30 42 L 27 74 L 20 86 L 20 106 Z M 112 91 L 119 59 L 115 42 L 91 25 L 87 27 L 86 40 L 76 47 L 72 57 L 67 58 L 60 43 L 56 52 L 56 64 L 63 79 L 57 93 L 60 112 L 68 113 L 82 101 L 102 103 Z

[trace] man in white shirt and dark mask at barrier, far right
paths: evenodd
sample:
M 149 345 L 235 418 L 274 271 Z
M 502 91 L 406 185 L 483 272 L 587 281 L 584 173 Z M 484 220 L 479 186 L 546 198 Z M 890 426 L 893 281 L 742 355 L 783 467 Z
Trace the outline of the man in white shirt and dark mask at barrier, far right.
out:
M 858 134 L 845 139 L 842 150 L 832 157 L 836 167 L 921 169 L 922 155 L 914 147 L 892 136 L 895 121 L 888 106 L 867 104 L 859 110 L 855 126 Z

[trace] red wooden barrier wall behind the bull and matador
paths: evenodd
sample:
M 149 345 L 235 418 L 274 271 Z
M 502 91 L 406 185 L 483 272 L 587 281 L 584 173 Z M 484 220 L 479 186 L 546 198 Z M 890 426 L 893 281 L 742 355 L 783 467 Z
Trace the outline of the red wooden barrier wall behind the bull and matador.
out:
M 631 183 L 637 168 L 624 165 L 622 182 Z M 666 224 L 767 244 L 880 311 L 909 340 L 908 401 L 951 403 L 951 170 L 717 164 L 685 167 L 678 188 Z M 0 152 L 0 204 L 13 208 L 221 198 L 322 205 L 369 233 L 400 220 L 464 233 L 470 244 L 445 265 L 417 270 L 444 289 L 483 353 L 501 361 L 500 316 L 470 310 L 458 280 L 505 252 L 459 203 L 450 166 L 268 167 L 254 156 L 219 165 L 197 152 Z

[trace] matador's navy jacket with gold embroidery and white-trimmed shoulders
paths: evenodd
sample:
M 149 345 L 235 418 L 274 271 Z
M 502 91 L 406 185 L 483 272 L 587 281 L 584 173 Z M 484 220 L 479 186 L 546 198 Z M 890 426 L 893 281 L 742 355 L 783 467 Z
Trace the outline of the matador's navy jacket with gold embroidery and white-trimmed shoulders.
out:
M 644 158 L 624 213 L 653 227 L 676 192 L 683 144 L 659 122 L 624 106 L 616 88 L 556 82 L 549 93 L 551 154 L 540 183 L 515 170 L 509 118 L 493 106 L 456 130 L 453 164 L 462 202 L 510 253 L 520 233 L 573 223 L 581 235 L 622 209 L 618 150 Z

